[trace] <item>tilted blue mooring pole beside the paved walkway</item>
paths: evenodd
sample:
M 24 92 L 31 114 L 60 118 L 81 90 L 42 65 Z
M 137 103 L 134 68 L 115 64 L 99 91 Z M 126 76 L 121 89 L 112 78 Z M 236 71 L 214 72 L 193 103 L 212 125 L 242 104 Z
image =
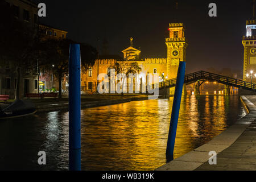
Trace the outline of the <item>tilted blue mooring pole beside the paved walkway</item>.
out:
M 184 77 L 185 77 L 185 69 L 186 69 L 186 62 L 180 61 L 179 68 L 177 71 L 177 78 L 176 78 L 176 86 L 174 92 L 174 102 L 172 104 L 172 115 L 171 115 L 171 122 L 167 140 L 167 148 L 166 148 L 166 159 L 167 162 L 170 162 L 174 159 L 174 144 L 176 138 L 176 131 L 177 131 L 177 122 L 179 119 L 179 111 L 180 111 L 180 101 L 182 96 L 182 89 L 184 84 Z

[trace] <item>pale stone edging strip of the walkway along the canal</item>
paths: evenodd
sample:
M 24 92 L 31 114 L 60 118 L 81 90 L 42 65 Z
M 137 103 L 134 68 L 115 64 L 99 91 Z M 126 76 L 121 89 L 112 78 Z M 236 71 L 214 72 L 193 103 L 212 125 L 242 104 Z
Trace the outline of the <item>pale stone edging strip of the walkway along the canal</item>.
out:
M 254 98 L 254 97 L 253 97 Z M 210 156 L 210 151 L 215 151 L 216 154 L 230 147 L 238 137 L 246 130 L 248 126 L 256 119 L 256 106 L 245 96 L 240 97 L 243 106 L 247 111 L 247 115 L 238 119 L 234 125 L 223 131 L 221 134 L 214 137 L 208 143 L 180 156 L 163 166 L 156 168 L 156 171 L 193 171 L 203 164 L 207 163 Z M 256 98 L 255 98 L 256 100 Z

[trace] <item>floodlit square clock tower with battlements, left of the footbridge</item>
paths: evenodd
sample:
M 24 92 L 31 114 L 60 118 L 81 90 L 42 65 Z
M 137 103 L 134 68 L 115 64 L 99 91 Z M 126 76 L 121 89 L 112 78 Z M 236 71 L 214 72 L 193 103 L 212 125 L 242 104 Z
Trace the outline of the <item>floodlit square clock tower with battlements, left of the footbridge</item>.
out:
M 186 61 L 186 48 L 183 23 L 169 23 L 170 38 L 166 38 L 167 46 L 167 76 L 168 79 L 177 77 L 179 61 Z M 175 88 L 170 89 L 174 94 Z

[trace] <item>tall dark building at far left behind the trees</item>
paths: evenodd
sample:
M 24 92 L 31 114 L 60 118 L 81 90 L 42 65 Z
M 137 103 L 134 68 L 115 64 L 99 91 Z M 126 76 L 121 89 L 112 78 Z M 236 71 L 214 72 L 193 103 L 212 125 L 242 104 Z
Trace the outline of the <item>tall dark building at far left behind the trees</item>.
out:
M 14 16 L 21 22 L 28 24 L 35 31 L 38 28 L 38 6 L 27 0 L 6 0 L 7 5 L 14 10 Z M 0 94 L 10 95 L 14 98 L 16 90 L 16 69 L 15 65 L 7 64 L 0 67 Z M 36 70 L 23 70 L 20 76 L 20 98 L 24 93 L 34 93 L 38 90 L 38 76 Z

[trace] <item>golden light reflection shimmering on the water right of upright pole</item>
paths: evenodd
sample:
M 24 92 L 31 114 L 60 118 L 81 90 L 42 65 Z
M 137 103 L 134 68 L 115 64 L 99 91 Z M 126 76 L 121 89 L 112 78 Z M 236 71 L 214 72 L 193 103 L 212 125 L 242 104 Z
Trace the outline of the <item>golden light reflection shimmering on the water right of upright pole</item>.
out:
M 242 113 L 237 96 L 181 98 L 177 158 L 224 131 Z M 133 101 L 82 110 L 82 169 L 151 170 L 166 163 L 170 100 Z M 226 109 L 226 102 L 232 107 Z

